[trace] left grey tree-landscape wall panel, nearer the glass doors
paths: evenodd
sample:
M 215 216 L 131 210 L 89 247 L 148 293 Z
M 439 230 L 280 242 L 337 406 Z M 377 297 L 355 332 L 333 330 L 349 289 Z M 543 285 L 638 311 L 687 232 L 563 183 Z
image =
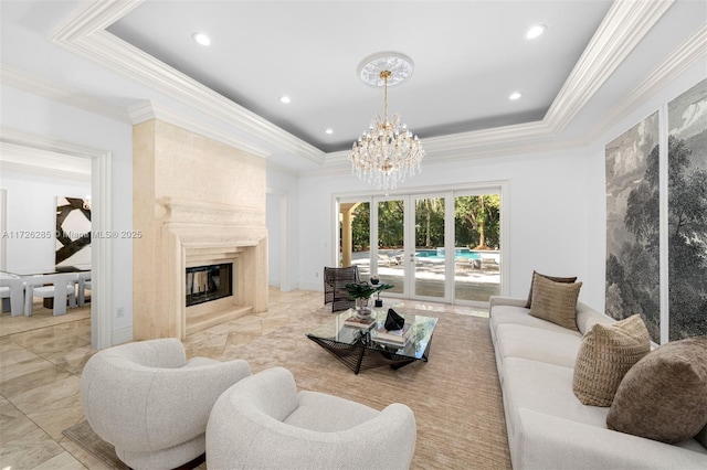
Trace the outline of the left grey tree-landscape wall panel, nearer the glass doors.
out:
M 661 339 L 659 151 L 655 113 L 605 147 L 606 313 L 641 313 Z

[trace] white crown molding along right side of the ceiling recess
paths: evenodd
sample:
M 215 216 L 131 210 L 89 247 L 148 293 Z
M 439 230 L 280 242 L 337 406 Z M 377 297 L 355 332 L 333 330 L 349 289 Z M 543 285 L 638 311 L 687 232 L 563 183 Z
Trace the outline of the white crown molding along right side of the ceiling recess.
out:
M 675 0 L 616 0 L 545 116 L 562 131 Z

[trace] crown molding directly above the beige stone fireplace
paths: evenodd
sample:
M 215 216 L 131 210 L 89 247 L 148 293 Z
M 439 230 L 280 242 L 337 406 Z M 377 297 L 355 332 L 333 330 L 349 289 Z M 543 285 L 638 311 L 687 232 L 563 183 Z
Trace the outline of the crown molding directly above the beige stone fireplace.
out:
M 243 150 L 261 158 L 267 158 L 271 153 L 257 146 L 239 139 L 230 133 L 215 129 L 212 126 L 205 126 L 197 119 L 189 118 L 183 114 L 177 113 L 167 106 L 160 105 L 151 100 L 140 102 L 128 108 L 130 121 L 136 125 L 150 119 L 159 119 L 173 126 L 191 130 L 201 136 L 217 140 L 226 146 Z

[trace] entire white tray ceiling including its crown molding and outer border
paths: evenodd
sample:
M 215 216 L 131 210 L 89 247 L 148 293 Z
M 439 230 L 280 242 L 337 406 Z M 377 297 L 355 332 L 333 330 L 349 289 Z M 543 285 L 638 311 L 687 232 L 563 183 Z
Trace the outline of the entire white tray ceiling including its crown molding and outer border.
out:
M 133 119 L 140 103 L 166 105 L 294 171 L 341 162 L 338 151 L 382 111 L 382 90 L 357 77 L 370 54 L 414 61 L 412 78 L 390 88 L 389 108 L 432 160 L 484 154 L 500 141 L 557 141 L 572 122 L 597 122 L 707 23 L 704 0 L 2 0 L 0 8 L 3 83 L 39 83 L 45 95 L 51 84 L 63 100 L 113 116 L 130 109 Z M 526 40 L 539 23 L 546 34 Z M 212 44 L 196 44 L 196 31 Z M 510 102 L 514 90 L 523 98 Z

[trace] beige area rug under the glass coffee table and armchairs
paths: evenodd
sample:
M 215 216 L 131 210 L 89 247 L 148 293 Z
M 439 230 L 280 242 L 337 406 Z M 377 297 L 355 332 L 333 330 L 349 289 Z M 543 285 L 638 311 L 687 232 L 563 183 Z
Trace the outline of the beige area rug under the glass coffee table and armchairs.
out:
M 226 346 L 222 360 L 244 359 L 260 372 L 284 366 L 300 389 L 330 393 L 377 409 L 404 403 L 415 414 L 418 441 L 413 469 L 510 469 L 502 392 L 488 319 L 444 312 L 430 361 L 397 371 L 388 366 L 355 375 L 305 334 L 328 318 L 315 311 L 243 345 Z M 113 469 L 126 467 L 113 446 L 83 421 L 64 435 Z

